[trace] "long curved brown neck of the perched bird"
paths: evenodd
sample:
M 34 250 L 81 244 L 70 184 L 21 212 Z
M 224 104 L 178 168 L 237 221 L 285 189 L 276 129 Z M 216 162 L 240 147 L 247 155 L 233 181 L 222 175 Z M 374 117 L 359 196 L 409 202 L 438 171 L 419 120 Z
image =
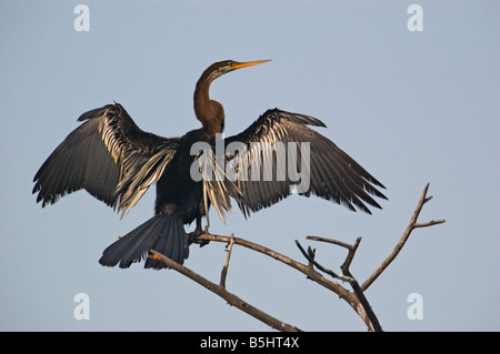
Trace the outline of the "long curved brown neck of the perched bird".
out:
M 198 80 L 194 90 L 194 113 L 209 136 L 216 136 L 224 129 L 224 109 L 209 97 L 210 83 L 218 77 L 213 71 L 207 70 Z

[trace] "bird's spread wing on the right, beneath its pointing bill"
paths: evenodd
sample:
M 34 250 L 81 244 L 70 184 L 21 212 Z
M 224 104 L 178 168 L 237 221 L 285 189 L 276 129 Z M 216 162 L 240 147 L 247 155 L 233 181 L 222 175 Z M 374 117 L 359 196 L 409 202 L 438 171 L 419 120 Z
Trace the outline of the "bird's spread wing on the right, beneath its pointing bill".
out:
M 227 181 L 219 193 L 232 196 L 246 215 L 293 192 L 307 196 L 312 193 L 352 211 L 370 213 L 366 204 L 380 209 L 370 194 L 387 199 L 376 188 L 384 186 L 307 125 L 326 127 L 312 117 L 274 109 L 242 133 L 227 138 Z

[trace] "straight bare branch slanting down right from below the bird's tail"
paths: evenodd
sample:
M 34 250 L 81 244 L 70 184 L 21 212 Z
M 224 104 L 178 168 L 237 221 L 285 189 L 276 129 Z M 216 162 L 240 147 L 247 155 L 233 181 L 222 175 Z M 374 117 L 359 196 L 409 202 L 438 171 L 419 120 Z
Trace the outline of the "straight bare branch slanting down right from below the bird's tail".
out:
M 204 287 L 210 290 L 212 293 L 216 293 L 220 297 L 224 299 L 229 305 L 238 307 L 239 310 L 248 313 L 249 315 L 256 317 L 257 320 L 262 321 L 263 323 L 271 326 L 272 328 L 276 328 L 279 331 L 284 331 L 284 332 L 300 332 L 301 331 L 296 326 L 292 326 L 288 323 L 279 321 L 279 320 L 272 317 L 271 315 L 264 313 L 263 311 L 260 311 L 259 309 L 253 307 L 249 303 L 242 301 L 237 295 L 228 292 L 221 285 L 217 285 L 217 284 L 210 282 L 209 280 L 204 279 L 203 276 L 199 275 L 198 273 L 170 260 L 169 257 L 164 256 L 163 254 L 161 254 L 157 251 L 153 251 L 153 250 L 151 250 L 151 253 L 152 254 L 150 254 L 149 257 L 163 262 L 164 264 L 167 264 L 168 267 L 188 276 L 189 279 L 193 280 L 198 284 L 203 285 Z

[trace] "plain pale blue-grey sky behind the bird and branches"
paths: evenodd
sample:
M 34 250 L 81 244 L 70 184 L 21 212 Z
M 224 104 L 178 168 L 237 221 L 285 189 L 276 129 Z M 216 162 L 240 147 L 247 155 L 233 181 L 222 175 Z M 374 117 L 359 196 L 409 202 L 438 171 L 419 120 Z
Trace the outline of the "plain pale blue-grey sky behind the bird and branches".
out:
M 226 133 L 270 108 L 316 117 L 389 200 L 368 215 L 293 195 L 248 220 L 236 208 L 226 224 L 212 210 L 210 231 L 306 262 L 299 240 L 332 270 L 344 250 L 306 236 L 361 236 L 351 265 L 361 283 L 430 183 L 420 221 L 447 222 L 416 230 L 367 299 L 386 331 L 499 331 L 499 11 L 498 1 L 2 1 L 0 330 L 271 331 L 174 271 L 98 263 L 151 218 L 154 188 L 123 219 L 84 191 L 42 209 L 31 190 L 81 113 L 114 100 L 142 130 L 180 136 L 200 127 L 192 93 L 208 65 L 272 59 L 213 82 Z M 184 265 L 218 283 L 224 259 L 211 243 Z M 336 294 L 241 246 L 227 290 L 304 331 L 367 331 Z M 420 318 L 408 315 L 412 299 Z

